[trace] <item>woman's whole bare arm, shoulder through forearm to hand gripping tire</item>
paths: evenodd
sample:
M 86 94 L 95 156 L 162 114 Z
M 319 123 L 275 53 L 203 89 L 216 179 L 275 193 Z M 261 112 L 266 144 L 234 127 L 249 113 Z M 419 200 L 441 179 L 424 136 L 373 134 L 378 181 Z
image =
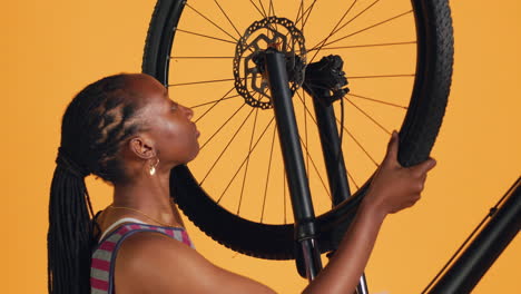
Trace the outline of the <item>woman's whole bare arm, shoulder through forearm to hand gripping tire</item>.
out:
M 397 163 L 397 136 L 393 135 L 384 161 L 362 202 L 356 217 L 327 266 L 304 293 L 350 293 L 362 275 L 376 236 L 387 214 L 420 199 L 426 173 L 435 165 L 429 159 L 404 168 Z M 213 265 L 196 251 L 156 233 L 136 234 L 127 239 L 116 261 L 119 293 L 274 293 L 247 277 Z

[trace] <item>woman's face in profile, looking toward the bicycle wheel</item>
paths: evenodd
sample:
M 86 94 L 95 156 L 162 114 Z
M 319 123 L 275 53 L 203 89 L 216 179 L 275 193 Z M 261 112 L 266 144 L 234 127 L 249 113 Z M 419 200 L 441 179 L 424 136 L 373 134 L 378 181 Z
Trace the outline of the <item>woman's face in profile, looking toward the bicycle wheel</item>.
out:
M 171 100 L 167 89 L 150 76 L 134 76 L 130 87 L 142 107 L 140 120 L 161 164 L 176 166 L 194 159 L 199 151 L 199 131 L 191 121 L 194 111 Z

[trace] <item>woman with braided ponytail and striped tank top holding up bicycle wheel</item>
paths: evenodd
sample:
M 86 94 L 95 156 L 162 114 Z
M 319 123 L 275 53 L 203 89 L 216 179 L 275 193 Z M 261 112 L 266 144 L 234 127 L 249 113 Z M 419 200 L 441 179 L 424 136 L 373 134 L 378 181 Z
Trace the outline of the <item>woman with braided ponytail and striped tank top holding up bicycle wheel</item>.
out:
M 49 293 L 274 293 L 190 246 L 170 202 L 169 173 L 199 150 L 193 116 L 147 75 L 110 76 L 72 99 L 50 193 Z M 420 198 L 435 161 L 401 167 L 397 141 L 393 133 L 346 237 L 304 293 L 354 291 L 385 216 Z M 114 203 L 95 222 L 89 174 L 114 186 Z

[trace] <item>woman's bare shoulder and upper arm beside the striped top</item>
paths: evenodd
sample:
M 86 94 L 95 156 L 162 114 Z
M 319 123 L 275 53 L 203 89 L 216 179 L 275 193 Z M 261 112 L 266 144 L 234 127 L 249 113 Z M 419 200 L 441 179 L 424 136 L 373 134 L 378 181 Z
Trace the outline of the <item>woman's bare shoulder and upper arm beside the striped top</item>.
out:
M 120 293 L 274 293 L 159 234 L 132 235 L 119 254 L 116 287 Z

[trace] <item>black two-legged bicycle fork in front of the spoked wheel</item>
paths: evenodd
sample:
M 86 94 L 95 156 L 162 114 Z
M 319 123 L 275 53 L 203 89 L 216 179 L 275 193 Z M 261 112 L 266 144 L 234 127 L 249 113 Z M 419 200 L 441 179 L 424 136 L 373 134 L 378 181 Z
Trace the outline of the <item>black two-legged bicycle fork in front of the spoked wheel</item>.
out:
M 297 254 L 297 265 L 304 263 L 305 276 L 311 282 L 322 270 L 322 261 L 317 247 L 315 213 L 304 166 L 292 92 L 288 87 L 286 60 L 283 53 L 274 48 L 268 48 L 265 51 L 265 62 L 292 197 L 292 208 L 295 218 L 295 241 L 297 244 L 296 251 L 301 254 Z M 326 106 L 318 102 L 317 97 L 313 95 L 316 89 L 314 90 L 309 87 L 305 89 L 312 92 L 317 124 L 320 129 L 324 130 L 320 131 L 320 134 L 334 206 L 350 197 L 351 193 L 346 179 L 344 159 L 340 151 L 335 116 L 331 106 L 333 100 Z M 341 92 L 341 95 L 342 99 L 343 94 Z M 302 259 L 299 261 L 299 258 Z M 297 266 L 297 270 L 301 275 L 304 274 L 299 266 Z M 358 294 L 368 293 L 364 275 L 362 275 L 356 291 Z

